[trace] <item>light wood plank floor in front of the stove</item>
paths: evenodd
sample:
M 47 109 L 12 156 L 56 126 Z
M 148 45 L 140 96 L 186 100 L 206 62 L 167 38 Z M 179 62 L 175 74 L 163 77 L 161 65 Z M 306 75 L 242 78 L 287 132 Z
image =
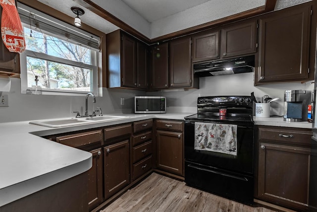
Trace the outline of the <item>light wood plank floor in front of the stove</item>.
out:
M 100 212 L 273 212 L 212 195 L 157 173 Z

